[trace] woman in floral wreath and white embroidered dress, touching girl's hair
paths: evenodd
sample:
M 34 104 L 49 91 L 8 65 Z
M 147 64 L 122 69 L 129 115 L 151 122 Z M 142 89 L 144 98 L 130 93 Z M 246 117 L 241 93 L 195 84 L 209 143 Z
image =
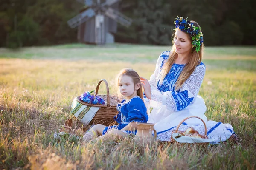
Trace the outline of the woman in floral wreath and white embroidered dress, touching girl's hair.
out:
M 149 81 L 140 78 L 147 108 L 153 108 L 148 122 L 155 123 L 158 139 L 170 141 L 172 131 L 184 118 L 199 116 L 206 122 L 209 138 L 221 142 L 232 136 L 238 142 L 230 124 L 207 121 L 204 115 L 206 106 L 198 96 L 205 74 L 205 65 L 201 62 L 204 43 L 200 26 L 195 21 L 177 17 L 175 28 L 172 50 L 160 54 Z M 184 131 L 188 127 L 204 134 L 200 119 L 187 119 L 179 130 Z

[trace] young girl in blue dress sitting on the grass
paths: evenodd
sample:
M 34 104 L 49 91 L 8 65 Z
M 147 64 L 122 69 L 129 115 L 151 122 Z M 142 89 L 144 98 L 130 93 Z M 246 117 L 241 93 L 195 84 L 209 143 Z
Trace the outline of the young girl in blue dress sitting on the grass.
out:
M 147 108 L 143 102 L 143 92 L 137 72 L 131 68 L 124 68 L 120 71 L 116 81 L 120 94 L 126 98 L 116 106 L 119 113 L 114 119 L 119 125 L 109 127 L 101 124 L 94 125 L 84 135 L 84 140 L 92 139 L 95 134 L 102 135 L 97 139 L 125 138 L 137 133 L 136 122 L 146 123 L 148 121 Z

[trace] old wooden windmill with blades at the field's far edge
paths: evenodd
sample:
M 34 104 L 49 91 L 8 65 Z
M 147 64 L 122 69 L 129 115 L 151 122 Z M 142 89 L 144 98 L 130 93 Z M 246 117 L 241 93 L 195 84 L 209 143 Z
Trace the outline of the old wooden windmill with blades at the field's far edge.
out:
M 87 7 L 76 17 L 68 20 L 71 28 L 78 27 L 79 42 L 105 44 L 113 43 L 113 33 L 117 31 L 117 22 L 131 25 L 131 18 L 121 14 L 118 10 L 120 0 L 77 0 Z

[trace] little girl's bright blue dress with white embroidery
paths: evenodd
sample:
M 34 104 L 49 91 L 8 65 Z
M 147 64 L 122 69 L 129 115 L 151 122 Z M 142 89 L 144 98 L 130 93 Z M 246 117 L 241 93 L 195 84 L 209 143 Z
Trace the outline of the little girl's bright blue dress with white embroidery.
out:
M 105 129 L 102 132 L 102 135 L 107 133 L 108 129 L 115 128 L 121 130 L 130 122 L 148 122 L 147 108 L 143 100 L 139 96 L 135 96 L 131 98 L 129 101 L 124 99 L 121 103 L 119 103 L 116 106 L 116 109 L 119 113 L 114 117 L 114 119 L 116 120 L 116 122 L 119 123 L 119 125 L 105 127 Z M 125 130 L 123 132 L 136 135 L 137 130 Z

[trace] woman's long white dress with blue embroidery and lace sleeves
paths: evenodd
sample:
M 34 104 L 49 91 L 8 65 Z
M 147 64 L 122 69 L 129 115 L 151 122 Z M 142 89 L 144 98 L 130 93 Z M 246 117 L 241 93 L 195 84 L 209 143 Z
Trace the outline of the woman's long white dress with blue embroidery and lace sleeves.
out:
M 155 123 L 157 139 L 170 141 L 172 130 L 176 130 L 176 126 L 184 118 L 198 116 L 206 123 L 209 138 L 214 139 L 214 142 L 227 140 L 234 133 L 233 127 L 230 124 L 207 121 L 207 117 L 204 115 L 206 111 L 204 99 L 198 95 L 205 74 L 205 66 L 202 62 L 195 68 L 179 91 L 175 91 L 175 82 L 185 65 L 172 65 L 163 83 L 160 84 L 160 73 L 169 53 L 170 51 L 164 51 L 160 54 L 154 74 L 150 77 L 151 100 L 144 95 L 148 111 L 150 107 L 153 108 L 148 122 Z M 184 131 L 188 127 L 194 127 L 200 134 L 204 134 L 204 125 L 200 119 L 187 119 L 179 130 Z

